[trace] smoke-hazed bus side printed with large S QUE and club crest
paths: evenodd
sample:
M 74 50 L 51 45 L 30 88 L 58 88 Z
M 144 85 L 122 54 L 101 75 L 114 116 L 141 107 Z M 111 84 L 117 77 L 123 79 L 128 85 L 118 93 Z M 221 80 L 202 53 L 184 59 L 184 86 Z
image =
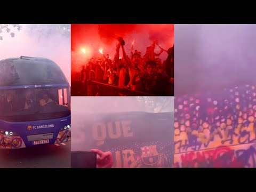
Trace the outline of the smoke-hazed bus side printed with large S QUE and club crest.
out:
M 72 114 L 71 151 L 111 151 L 114 167 L 173 167 L 173 113 Z

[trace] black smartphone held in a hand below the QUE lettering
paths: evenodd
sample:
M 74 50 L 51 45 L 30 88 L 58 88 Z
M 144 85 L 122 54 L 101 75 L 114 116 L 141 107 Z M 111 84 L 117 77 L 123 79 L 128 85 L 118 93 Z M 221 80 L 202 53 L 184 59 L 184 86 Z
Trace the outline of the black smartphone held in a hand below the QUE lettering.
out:
M 96 158 L 90 151 L 71 151 L 71 168 L 96 168 Z

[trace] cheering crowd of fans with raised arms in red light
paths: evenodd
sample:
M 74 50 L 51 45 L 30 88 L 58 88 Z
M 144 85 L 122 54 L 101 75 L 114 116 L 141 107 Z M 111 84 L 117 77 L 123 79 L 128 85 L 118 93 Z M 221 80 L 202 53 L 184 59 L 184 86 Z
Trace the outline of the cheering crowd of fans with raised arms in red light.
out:
M 161 51 L 155 53 L 154 41 L 143 56 L 138 50 L 133 52 L 133 47 L 127 55 L 124 46 L 123 38 L 118 38 L 114 59 L 99 53 L 99 57 L 86 61 L 79 73 L 81 95 L 100 95 L 101 83 L 158 96 L 174 94 L 174 45 L 168 50 L 159 46 Z M 168 56 L 162 61 L 158 57 L 164 51 Z M 98 82 L 96 89 L 92 81 Z

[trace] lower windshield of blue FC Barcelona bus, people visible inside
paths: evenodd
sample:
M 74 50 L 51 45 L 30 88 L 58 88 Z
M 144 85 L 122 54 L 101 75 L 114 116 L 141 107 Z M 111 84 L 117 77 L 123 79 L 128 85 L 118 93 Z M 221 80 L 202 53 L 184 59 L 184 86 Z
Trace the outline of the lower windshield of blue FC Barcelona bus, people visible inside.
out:
M 0 119 L 38 121 L 70 115 L 69 87 L 0 90 Z

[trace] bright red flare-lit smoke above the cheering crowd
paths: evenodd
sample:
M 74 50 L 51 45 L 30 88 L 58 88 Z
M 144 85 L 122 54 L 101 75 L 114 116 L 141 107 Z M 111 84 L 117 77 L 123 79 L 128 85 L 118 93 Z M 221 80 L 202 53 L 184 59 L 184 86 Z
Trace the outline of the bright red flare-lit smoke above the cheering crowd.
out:
M 169 49 L 174 43 L 173 24 L 78 24 L 71 25 L 71 70 L 77 71 L 92 57 L 96 59 L 99 49 L 103 54 L 109 54 L 114 58 L 117 37 L 124 38 L 126 53 L 130 56 L 132 42 L 133 51 L 138 50 L 143 56 L 146 47 L 150 46 L 155 39 L 157 44 L 164 49 Z M 82 49 L 86 53 L 82 53 Z M 155 47 L 155 52 L 160 51 Z M 122 51 L 120 51 L 122 57 Z M 159 58 L 164 61 L 167 53 L 163 52 Z

